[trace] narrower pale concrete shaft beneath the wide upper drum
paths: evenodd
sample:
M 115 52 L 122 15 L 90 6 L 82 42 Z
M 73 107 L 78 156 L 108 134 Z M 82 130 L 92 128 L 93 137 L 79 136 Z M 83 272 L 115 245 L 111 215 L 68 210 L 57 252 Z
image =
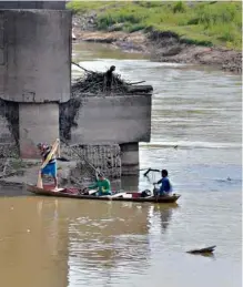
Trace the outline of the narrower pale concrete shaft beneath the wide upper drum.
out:
M 59 137 L 59 104 L 19 104 L 19 136 L 21 157 L 40 157 L 37 144 Z

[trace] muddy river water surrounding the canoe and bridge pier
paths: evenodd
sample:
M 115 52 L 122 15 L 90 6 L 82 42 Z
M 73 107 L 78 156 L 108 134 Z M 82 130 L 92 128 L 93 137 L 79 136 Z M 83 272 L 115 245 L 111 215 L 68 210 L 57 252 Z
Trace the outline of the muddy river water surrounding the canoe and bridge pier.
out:
M 74 44 L 73 59 L 99 71 L 114 64 L 122 78 L 153 85 L 141 168 L 168 168 L 182 197 L 156 206 L 2 196 L 1 286 L 240 287 L 241 76 L 92 43 Z M 138 184 L 151 188 L 142 172 L 139 183 L 122 181 L 124 188 Z M 211 257 L 185 253 L 210 245 Z

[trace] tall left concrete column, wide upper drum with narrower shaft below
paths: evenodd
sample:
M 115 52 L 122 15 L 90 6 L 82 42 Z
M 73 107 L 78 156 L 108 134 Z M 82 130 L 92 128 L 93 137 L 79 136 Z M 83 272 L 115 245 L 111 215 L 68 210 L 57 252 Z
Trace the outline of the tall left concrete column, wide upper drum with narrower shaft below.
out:
M 0 99 L 19 105 L 19 147 L 59 137 L 59 103 L 70 99 L 71 12 L 0 10 Z

